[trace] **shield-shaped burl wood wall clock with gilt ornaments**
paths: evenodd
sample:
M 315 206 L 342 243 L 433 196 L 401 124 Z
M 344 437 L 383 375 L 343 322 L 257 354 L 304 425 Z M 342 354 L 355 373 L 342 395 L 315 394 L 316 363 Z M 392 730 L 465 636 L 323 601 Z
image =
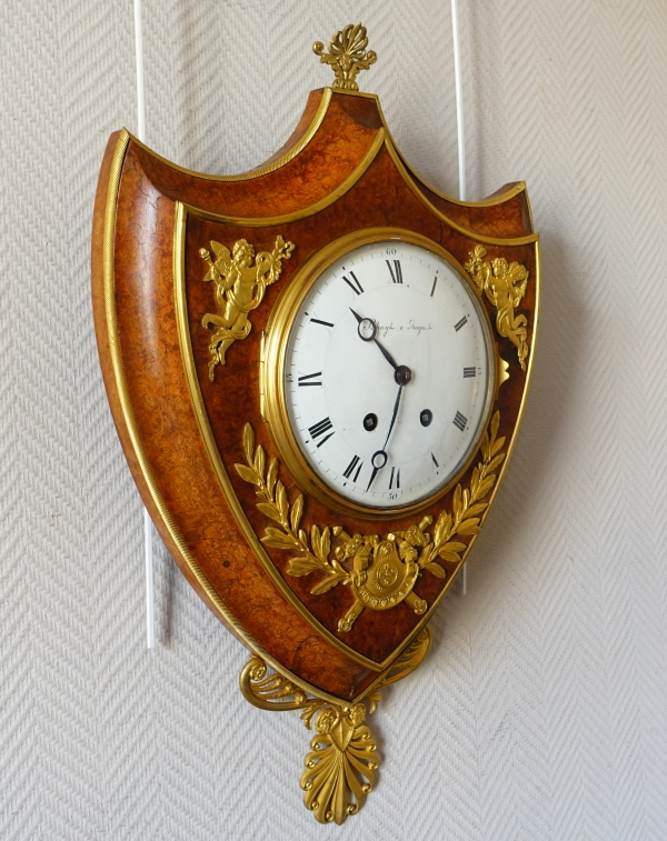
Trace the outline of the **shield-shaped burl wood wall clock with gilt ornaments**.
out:
M 494 501 L 524 410 L 538 236 L 522 182 L 449 199 L 336 71 L 258 169 L 191 172 L 122 130 L 100 173 L 92 292 L 102 373 L 145 504 L 251 652 L 243 695 L 300 710 L 317 820 L 362 805 L 380 690 Z

